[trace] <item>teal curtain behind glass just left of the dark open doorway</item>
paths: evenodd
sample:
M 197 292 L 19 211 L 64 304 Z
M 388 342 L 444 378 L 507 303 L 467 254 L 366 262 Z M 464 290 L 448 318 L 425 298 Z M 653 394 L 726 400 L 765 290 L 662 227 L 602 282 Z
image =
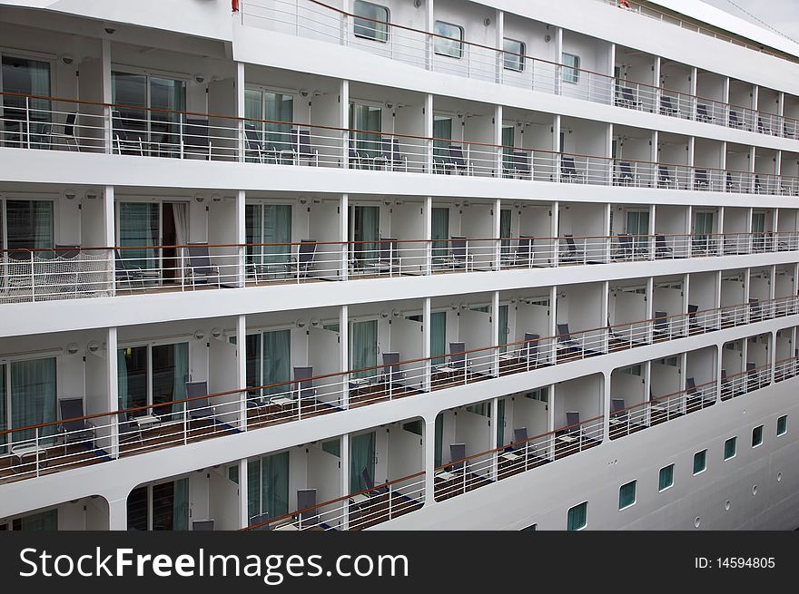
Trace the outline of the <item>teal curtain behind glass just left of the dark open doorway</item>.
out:
M 160 227 L 159 204 L 120 202 L 119 245 L 136 247 L 120 250 L 125 268 L 158 269 L 153 246 L 158 245 Z

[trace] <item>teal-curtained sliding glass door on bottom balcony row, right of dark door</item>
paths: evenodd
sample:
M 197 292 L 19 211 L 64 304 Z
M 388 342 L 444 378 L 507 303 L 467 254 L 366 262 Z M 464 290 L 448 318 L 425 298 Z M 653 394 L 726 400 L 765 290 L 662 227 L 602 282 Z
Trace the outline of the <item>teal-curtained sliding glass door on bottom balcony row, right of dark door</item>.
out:
M 289 453 L 274 453 L 247 463 L 247 514 L 250 521 L 289 512 Z

